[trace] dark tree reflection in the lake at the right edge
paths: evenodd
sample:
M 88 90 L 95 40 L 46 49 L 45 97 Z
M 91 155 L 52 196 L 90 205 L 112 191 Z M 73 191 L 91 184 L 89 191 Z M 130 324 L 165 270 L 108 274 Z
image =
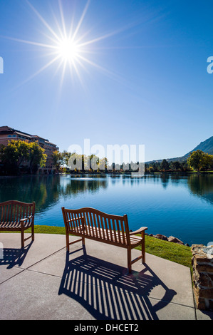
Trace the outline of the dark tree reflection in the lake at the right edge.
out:
M 213 175 L 190 175 L 188 186 L 193 195 L 213 204 Z

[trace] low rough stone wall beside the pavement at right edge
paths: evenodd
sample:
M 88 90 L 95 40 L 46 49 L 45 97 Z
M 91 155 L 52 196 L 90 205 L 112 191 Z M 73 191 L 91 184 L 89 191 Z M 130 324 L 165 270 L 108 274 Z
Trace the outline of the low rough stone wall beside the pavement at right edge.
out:
M 193 290 L 197 309 L 213 310 L 213 254 L 203 244 L 192 244 Z

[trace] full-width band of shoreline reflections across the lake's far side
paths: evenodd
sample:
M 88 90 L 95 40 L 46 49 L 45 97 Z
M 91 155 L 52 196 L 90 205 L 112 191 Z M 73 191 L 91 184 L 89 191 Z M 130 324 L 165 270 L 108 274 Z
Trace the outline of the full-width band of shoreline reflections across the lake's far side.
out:
M 141 178 L 132 178 L 130 175 L 110 175 L 111 185 L 131 186 L 146 184 L 161 184 L 164 189 L 168 185 L 185 185 L 192 195 L 201 197 L 213 204 L 213 175 L 192 174 L 183 176 L 179 174 L 145 175 Z M 75 176 L 29 176 L 29 177 L 3 177 L 0 178 L 0 202 L 6 200 L 19 200 L 23 202 L 36 201 L 37 210 L 56 203 L 59 197 L 75 197 L 80 193 L 97 192 L 107 189 L 109 177 L 107 175 L 75 175 Z

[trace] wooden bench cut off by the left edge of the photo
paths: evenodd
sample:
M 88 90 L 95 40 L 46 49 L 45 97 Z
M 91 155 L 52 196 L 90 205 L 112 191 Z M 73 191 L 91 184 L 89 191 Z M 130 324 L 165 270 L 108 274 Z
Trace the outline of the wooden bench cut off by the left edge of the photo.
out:
M 16 200 L 0 203 L 0 231 L 20 231 L 22 248 L 27 239 L 34 240 L 35 205 L 35 202 L 27 204 Z M 29 227 L 31 227 L 31 236 L 24 239 L 24 230 Z

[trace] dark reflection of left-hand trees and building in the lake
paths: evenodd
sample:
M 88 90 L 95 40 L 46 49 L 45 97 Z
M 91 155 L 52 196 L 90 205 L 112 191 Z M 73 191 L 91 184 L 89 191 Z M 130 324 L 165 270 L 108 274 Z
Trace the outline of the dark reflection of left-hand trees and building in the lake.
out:
M 56 204 L 59 198 L 77 196 L 79 193 L 97 192 L 108 185 L 106 178 L 72 179 L 60 176 L 23 176 L 4 177 L 0 179 L 0 202 L 19 200 L 36 202 L 36 212 L 43 212 Z

